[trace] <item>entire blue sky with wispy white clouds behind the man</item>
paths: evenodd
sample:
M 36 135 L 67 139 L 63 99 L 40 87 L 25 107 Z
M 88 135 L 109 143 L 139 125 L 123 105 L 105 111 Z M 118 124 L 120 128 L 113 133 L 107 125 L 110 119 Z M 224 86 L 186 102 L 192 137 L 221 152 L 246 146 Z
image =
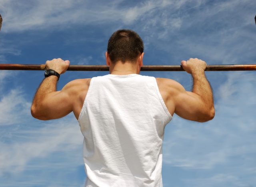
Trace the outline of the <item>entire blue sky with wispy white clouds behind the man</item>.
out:
M 145 44 L 144 64 L 256 64 L 253 0 L 1 0 L 1 64 L 105 64 L 110 35 L 132 29 Z M 69 81 L 108 72 L 65 72 Z M 180 82 L 186 72 L 141 72 Z M 166 187 L 256 185 L 256 73 L 206 72 L 214 93 L 213 120 L 174 114 L 163 143 Z M 44 71 L 0 71 L 0 186 L 83 186 L 83 136 L 73 113 L 40 121 L 30 114 Z

